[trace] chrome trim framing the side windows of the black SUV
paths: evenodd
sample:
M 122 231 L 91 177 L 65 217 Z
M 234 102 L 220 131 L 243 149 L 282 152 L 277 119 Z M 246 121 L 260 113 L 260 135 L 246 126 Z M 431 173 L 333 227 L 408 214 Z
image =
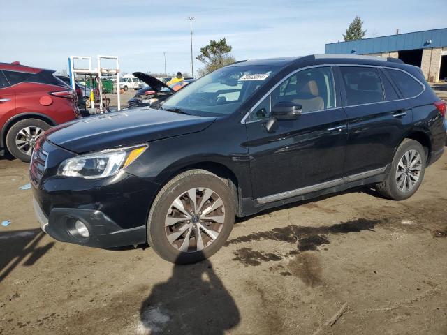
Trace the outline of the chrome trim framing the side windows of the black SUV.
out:
M 241 119 L 241 121 L 240 121 L 240 123 L 241 124 L 251 124 L 251 123 L 254 123 L 254 122 L 260 122 L 260 121 L 265 121 L 265 119 L 260 119 L 260 120 L 254 120 L 254 121 L 245 121 L 246 119 L 247 119 L 247 117 L 249 116 L 249 114 L 251 113 L 251 112 L 253 112 L 254 111 L 254 109 L 256 108 L 256 107 L 258 107 L 258 105 L 265 99 L 265 98 L 267 98 L 267 96 L 269 95 L 269 94 L 271 94 L 272 93 L 272 91 L 274 90 L 274 89 L 276 89 L 278 86 L 279 86 L 279 84 L 281 84 L 281 82 L 284 82 L 284 80 L 286 80 L 288 77 L 290 77 L 291 75 L 294 75 L 295 73 L 297 73 L 297 72 L 299 72 L 299 71 L 301 71 L 301 70 L 307 70 L 307 69 L 309 69 L 309 68 L 321 68 L 321 67 L 328 67 L 328 66 L 331 66 L 331 67 L 333 67 L 333 66 L 357 66 L 357 67 L 362 67 L 362 68 L 387 68 L 387 69 L 390 69 L 390 70 L 398 70 L 398 71 L 402 71 L 403 73 L 405 73 L 406 75 L 409 75 L 410 77 L 412 77 L 414 80 L 416 80 L 416 82 L 418 82 L 419 84 L 420 84 L 420 86 L 422 86 L 423 87 L 423 90 L 422 91 L 420 91 L 420 93 L 419 94 L 417 94 L 416 96 L 411 96 L 410 98 L 402 98 L 402 99 L 395 99 L 395 100 L 386 100 L 386 101 L 377 101 L 377 102 L 375 102 L 375 103 L 362 103 L 362 104 L 360 104 L 360 105 L 344 105 L 343 104 L 343 101 L 342 101 L 342 106 L 340 106 L 340 107 L 343 107 L 343 108 L 346 108 L 346 107 L 359 107 L 359 106 L 367 106 L 367 105 L 375 105 L 376 103 L 391 103 L 391 102 L 395 102 L 395 101 L 403 101 L 403 100 L 409 100 L 409 99 L 413 99 L 413 98 L 417 98 L 418 96 L 420 96 L 421 94 L 423 94 L 424 92 L 425 92 L 425 90 L 427 89 L 427 87 L 425 86 L 425 84 L 423 83 L 423 82 L 421 82 L 420 80 L 418 80 L 418 78 L 416 78 L 414 75 L 412 75 L 411 73 L 409 73 L 408 71 L 406 71 L 406 70 L 403 70 L 402 68 L 393 68 L 393 67 L 391 67 L 391 66 L 381 66 L 381 65 L 369 65 L 369 64 L 365 64 L 365 65 L 363 65 L 363 64 L 319 64 L 319 65 L 313 65 L 313 66 L 306 66 L 305 68 L 299 68 L 299 69 L 297 69 L 297 70 L 293 70 L 291 73 L 289 73 L 288 75 L 286 75 L 284 78 L 282 78 L 279 82 L 277 82 L 277 84 L 275 84 L 274 85 L 274 87 L 272 87 L 272 89 L 270 89 L 253 107 L 251 107 L 250 108 L 250 110 L 244 115 L 244 117 Z M 332 75 L 333 75 L 333 73 L 332 73 Z M 334 80 L 334 85 L 335 85 L 335 80 Z M 335 89 L 336 89 L 336 87 L 334 87 L 334 91 L 335 91 Z M 335 91 L 335 105 L 337 105 L 337 93 L 336 93 L 336 91 Z M 334 108 L 328 108 L 328 109 L 326 109 L 326 110 L 335 110 L 335 109 L 337 109 L 337 108 L 340 108 L 340 107 L 334 107 Z M 313 112 L 321 112 L 321 111 L 323 111 L 323 110 L 314 110 L 314 111 L 312 111 L 312 112 L 307 112 L 307 113 L 313 113 Z M 307 114 L 306 113 L 306 114 Z

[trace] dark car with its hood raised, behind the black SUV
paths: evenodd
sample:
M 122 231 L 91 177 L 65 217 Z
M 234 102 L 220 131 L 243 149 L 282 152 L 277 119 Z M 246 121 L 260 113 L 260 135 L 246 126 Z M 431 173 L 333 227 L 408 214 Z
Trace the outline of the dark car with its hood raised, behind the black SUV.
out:
M 176 82 L 168 86 L 164 84 L 156 77 L 147 75 L 142 72 L 134 72 L 133 75 L 145 82 L 148 86 L 139 89 L 135 96 L 127 101 L 129 108 L 151 106 L 158 108 L 159 104 L 172 96 L 176 91 L 186 86 L 193 80 L 182 80 L 182 82 Z

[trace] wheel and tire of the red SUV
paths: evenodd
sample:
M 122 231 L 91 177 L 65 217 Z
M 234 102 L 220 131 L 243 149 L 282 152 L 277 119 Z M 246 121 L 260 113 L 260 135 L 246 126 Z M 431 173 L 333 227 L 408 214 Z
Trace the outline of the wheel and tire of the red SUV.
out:
M 14 124 L 6 134 L 6 147 L 15 158 L 31 161 L 31 151 L 38 137 L 51 126 L 39 119 L 24 119 Z

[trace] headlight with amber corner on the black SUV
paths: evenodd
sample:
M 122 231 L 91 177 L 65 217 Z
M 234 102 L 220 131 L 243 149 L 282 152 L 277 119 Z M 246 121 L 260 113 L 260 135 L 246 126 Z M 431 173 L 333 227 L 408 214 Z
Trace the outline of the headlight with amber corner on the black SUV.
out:
M 57 174 L 87 179 L 109 177 L 130 165 L 148 147 L 145 144 L 68 158 L 59 165 Z

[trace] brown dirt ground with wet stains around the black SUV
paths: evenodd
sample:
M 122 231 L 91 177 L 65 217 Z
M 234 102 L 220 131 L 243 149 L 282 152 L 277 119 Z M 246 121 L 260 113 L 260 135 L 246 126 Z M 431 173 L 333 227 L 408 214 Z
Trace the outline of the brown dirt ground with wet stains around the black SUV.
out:
M 0 334 L 447 334 L 447 154 L 413 198 L 367 189 L 238 221 L 210 260 L 54 241 L 0 161 Z

